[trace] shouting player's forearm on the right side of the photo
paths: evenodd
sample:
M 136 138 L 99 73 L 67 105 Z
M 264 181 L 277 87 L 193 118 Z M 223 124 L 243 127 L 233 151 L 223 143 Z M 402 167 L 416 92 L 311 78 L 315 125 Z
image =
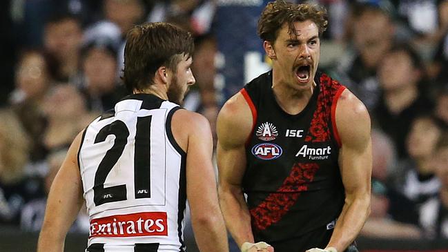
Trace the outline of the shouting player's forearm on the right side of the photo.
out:
M 370 213 L 370 195 L 347 197 L 342 213 L 338 217 L 329 246 L 342 252 L 355 240 Z

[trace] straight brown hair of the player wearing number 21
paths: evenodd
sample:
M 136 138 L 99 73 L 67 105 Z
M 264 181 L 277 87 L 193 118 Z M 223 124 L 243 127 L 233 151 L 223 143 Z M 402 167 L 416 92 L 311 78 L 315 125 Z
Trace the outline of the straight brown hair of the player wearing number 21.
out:
M 143 23 L 126 35 L 124 75 L 126 88 L 144 90 L 154 81 L 161 66 L 176 72 L 183 55 L 193 55 L 194 42 L 190 32 L 170 23 Z

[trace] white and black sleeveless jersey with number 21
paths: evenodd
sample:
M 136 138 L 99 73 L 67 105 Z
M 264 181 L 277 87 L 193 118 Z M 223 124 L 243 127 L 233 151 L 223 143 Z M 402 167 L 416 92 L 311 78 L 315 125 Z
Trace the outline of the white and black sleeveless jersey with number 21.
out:
M 84 130 L 78 159 L 90 217 L 87 251 L 185 251 L 186 153 L 171 132 L 179 108 L 154 95 L 129 95 Z

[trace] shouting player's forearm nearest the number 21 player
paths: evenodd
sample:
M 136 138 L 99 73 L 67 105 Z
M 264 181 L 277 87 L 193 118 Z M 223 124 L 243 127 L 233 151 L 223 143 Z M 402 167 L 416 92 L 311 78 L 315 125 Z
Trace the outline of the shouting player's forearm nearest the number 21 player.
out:
M 253 242 L 251 215 L 240 189 L 230 190 L 220 187 L 218 192 L 222 214 L 233 240 L 239 247 L 244 242 Z

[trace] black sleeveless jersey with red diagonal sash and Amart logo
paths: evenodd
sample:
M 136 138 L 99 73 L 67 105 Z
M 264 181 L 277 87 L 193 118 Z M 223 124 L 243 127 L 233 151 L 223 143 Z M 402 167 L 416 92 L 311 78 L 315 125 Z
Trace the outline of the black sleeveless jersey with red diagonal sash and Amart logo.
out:
M 240 91 L 253 115 L 242 187 L 255 240 L 295 238 L 331 223 L 342 211 L 334 115 L 345 87 L 319 72 L 315 83 L 309 103 L 297 115 L 277 104 L 272 72 Z

